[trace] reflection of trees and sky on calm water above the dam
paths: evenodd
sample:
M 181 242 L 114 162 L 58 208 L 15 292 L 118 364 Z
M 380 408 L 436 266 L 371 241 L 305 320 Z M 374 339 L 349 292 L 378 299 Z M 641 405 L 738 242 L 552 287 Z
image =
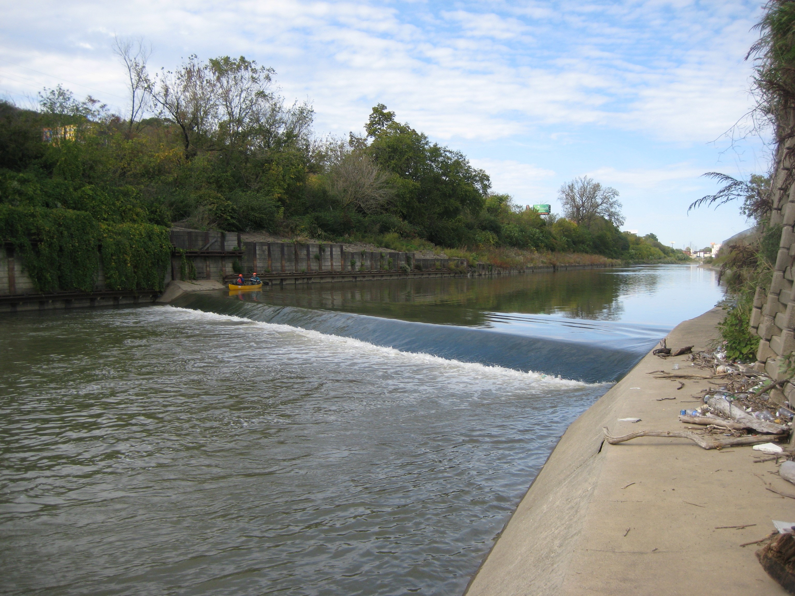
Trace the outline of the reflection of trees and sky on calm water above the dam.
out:
M 242 298 L 442 325 L 487 327 L 490 313 L 508 312 L 671 328 L 712 308 L 720 296 L 712 269 L 645 265 L 491 278 L 266 286 Z

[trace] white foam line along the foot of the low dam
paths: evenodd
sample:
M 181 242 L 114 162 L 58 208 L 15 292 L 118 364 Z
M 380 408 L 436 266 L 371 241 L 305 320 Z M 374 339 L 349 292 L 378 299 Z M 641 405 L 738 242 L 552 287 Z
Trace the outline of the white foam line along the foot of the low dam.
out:
M 152 308 L 155 309 L 162 307 Z M 171 311 L 179 312 L 180 315 L 188 319 L 246 323 L 246 327 L 259 327 L 262 328 L 263 331 L 275 331 L 277 333 L 293 333 L 313 341 L 320 341 L 326 344 L 331 343 L 335 346 L 344 347 L 346 348 L 346 351 L 352 350 L 355 352 L 361 352 L 362 350 L 367 350 L 370 351 L 370 353 L 378 354 L 379 358 L 397 359 L 402 362 L 408 360 L 415 365 L 432 365 L 440 367 L 447 372 L 456 372 L 457 370 L 460 371 L 460 373 L 466 373 L 467 376 L 479 377 L 483 374 L 486 374 L 492 378 L 502 377 L 506 380 L 512 379 L 518 381 L 531 381 L 533 383 L 552 385 L 556 388 L 582 388 L 594 387 L 598 385 L 612 385 L 612 383 L 585 383 L 583 381 L 574 381 L 572 379 L 564 379 L 545 373 L 536 373 L 532 370 L 525 373 L 521 370 L 508 369 L 502 366 L 489 366 L 480 364 L 478 362 L 461 362 L 460 360 L 441 358 L 440 356 L 425 354 L 423 352 L 404 352 L 401 350 L 396 350 L 392 347 L 376 346 L 373 343 L 364 342 L 361 339 L 347 338 L 341 335 L 329 335 L 326 333 L 321 333 L 320 331 L 304 329 L 303 327 L 293 327 L 292 325 L 285 325 L 281 323 L 262 323 L 236 315 L 219 315 L 215 312 L 196 311 L 191 308 L 173 306 L 169 306 L 167 308 L 169 308 Z

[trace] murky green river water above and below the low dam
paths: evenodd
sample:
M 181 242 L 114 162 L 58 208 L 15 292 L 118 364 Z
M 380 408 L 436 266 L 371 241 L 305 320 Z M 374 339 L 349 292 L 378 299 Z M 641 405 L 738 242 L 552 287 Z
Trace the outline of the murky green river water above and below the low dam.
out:
M 2 594 L 460 594 L 687 265 L 0 319 Z

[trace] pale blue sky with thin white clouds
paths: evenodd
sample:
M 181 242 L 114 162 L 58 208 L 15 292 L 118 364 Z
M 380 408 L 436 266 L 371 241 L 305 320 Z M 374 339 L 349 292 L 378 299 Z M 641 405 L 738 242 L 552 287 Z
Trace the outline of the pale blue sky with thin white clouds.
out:
M 150 71 L 246 56 L 312 103 L 319 137 L 361 134 L 384 103 L 515 203 L 560 212 L 560 186 L 590 176 L 619 191 L 622 229 L 701 247 L 750 225 L 732 204 L 688 214 L 717 189 L 701 175 L 770 161 L 748 115 L 761 4 L 2 0 L 0 95 L 29 106 L 60 83 L 123 113 L 114 36 L 150 44 Z

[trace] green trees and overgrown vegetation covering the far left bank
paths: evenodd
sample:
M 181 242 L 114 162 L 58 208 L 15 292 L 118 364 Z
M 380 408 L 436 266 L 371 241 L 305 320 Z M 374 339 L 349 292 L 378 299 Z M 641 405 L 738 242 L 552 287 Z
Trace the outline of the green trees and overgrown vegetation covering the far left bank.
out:
M 99 244 L 109 287 L 159 287 L 173 222 L 395 250 L 440 247 L 494 264 L 572 253 L 688 260 L 653 234 L 622 233 L 619 193 L 594 180 L 564 184 L 564 217 L 545 219 L 491 192 L 486 172 L 382 104 L 365 134 L 318 140 L 312 107 L 285 104 L 270 68 L 242 56 L 190 56 L 150 75 L 146 48 L 117 41 L 115 51 L 130 82 L 123 118 L 60 86 L 40 94 L 37 111 L 0 103 L 2 240 L 19 246 L 42 291 L 91 287 L 97 262 L 89 245 Z M 72 254 L 67 244 L 80 234 L 85 246 Z

